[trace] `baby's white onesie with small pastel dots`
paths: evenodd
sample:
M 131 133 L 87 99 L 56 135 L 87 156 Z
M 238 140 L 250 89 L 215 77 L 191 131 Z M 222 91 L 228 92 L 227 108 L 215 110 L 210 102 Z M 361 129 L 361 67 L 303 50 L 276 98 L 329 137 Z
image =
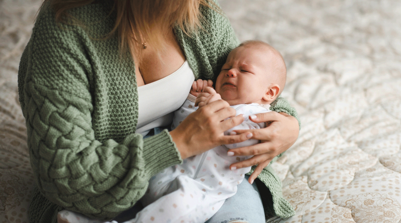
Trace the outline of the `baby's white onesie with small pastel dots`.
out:
M 194 112 L 194 97 L 189 95 L 184 104 L 174 113 L 172 128 Z M 264 123 L 255 123 L 249 116 L 269 112 L 269 105 L 257 103 L 231 106 L 245 120 L 233 130 L 264 128 Z M 180 165 L 166 168 L 150 179 L 149 188 L 141 201 L 145 208 L 135 219 L 127 223 L 203 223 L 213 216 L 225 199 L 237 192 L 237 185 L 251 167 L 229 170 L 230 164 L 251 156 L 227 156 L 227 148 L 237 148 L 258 143 L 247 140 L 237 144 L 217 146 L 203 154 L 192 156 Z

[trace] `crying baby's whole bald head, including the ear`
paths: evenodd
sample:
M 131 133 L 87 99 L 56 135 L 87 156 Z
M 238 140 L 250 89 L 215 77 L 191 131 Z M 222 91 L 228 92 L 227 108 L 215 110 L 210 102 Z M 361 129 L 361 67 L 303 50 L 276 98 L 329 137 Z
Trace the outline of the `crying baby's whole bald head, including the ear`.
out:
M 246 41 L 227 56 L 215 89 L 230 105 L 270 104 L 285 84 L 286 65 L 281 54 L 262 41 Z

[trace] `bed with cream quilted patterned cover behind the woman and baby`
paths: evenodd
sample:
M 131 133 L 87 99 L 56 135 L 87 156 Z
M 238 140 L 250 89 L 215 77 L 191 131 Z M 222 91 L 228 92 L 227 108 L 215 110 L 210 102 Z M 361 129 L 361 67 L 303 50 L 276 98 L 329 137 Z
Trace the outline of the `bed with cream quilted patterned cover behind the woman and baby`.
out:
M 271 223 L 401 223 L 401 1 L 219 0 L 241 41 L 287 64 L 296 143 L 272 166 L 296 210 Z M 39 0 L 0 0 L 0 223 L 28 222 L 34 178 L 17 71 Z

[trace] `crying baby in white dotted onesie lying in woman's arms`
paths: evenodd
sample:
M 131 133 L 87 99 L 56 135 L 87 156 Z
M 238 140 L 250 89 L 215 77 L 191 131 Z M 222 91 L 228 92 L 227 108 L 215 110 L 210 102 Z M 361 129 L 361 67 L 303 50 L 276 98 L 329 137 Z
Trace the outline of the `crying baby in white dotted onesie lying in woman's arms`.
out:
M 219 99 L 227 101 L 237 115 L 244 116 L 240 125 L 225 134 L 233 134 L 233 130 L 264 128 L 264 123 L 252 122 L 249 116 L 269 112 L 270 103 L 278 97 L 285 83 L 286 65 L 280 53 L 261 41 L 244 42 L 229 53 L 215 89 L 210 80 L 194 81 L 187 100 L 174 112 L 172 129 L 199 107 Z M 250 156 L 232 156 L 227 153 L 227 148 L 258 142 L 246 140 L 217 146 L 156 174 L 150 179 L 148 191 L 141 199 L 145 208 L 125 223 L 207 221 L 227 198 L 235 195 L 237 185 L 251 169 L 230 170 L 231 163 Z

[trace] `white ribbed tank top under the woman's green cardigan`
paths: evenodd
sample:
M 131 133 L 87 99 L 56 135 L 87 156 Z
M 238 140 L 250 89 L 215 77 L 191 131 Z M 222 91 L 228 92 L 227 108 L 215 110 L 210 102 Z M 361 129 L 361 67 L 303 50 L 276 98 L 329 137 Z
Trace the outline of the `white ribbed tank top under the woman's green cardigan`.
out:
M 153 128 L 170 125 L 174 111 L 184 103 L 194 80 L 194 73 L 185 61 L 172 74 L 138 87 L 136 133 L 146 136 Z

